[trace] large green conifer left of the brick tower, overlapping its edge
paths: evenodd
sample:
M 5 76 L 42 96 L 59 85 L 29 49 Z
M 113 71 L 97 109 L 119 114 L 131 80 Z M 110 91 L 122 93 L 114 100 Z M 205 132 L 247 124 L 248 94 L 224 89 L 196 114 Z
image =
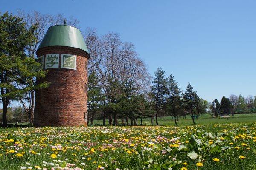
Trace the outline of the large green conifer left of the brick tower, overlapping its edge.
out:
M 18 100 L 28 91 L 45 88 L 47 83 L 29 85 L 31 79 L 44 77 L 40 63 L 26 56 L 25 50 L 35 40 L 35 26 L 26 30 L 20 17 L 0 15 L 0 97 L 3 103 L 3 126 L 11 100 Z M 40 71 L 38 71 L 40 70 Z

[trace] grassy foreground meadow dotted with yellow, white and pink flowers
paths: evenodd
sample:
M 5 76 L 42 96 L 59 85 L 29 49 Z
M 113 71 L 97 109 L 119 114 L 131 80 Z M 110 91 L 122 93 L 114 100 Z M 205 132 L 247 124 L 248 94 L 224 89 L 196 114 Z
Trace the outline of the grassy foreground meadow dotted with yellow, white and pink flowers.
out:
M 256 170 L 256 124 L 0 129 L 1 170 Z

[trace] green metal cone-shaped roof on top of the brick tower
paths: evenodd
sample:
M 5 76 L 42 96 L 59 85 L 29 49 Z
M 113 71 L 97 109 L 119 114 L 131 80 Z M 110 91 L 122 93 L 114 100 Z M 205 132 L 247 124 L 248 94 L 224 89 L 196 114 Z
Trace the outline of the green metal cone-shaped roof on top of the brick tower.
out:
M 89 54 L 81 31 L 73 26 L 57 25 L 49 27 L 38 49 L 49 46 L 74 47 Z

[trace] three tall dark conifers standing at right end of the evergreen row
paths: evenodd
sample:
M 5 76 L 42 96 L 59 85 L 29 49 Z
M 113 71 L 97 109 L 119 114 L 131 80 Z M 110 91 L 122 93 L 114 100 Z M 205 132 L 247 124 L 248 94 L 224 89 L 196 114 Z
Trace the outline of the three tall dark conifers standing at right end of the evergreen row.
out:
M 193 123 L 195 124 L 194 115 L 205 113 L 208 102 L 199 98 L 196 91 L 193 90 L 190 83 L 182 94 L 178 83 L 175 81 L 172 74 L 165 78 L 164 71 L 161 68 L 155 72 L 153 85 L 150 87 L 152 103 L 154 105 L 156 124 L 159 115 L 173 116 L 177 125 L 177 116 L 191 114 Z

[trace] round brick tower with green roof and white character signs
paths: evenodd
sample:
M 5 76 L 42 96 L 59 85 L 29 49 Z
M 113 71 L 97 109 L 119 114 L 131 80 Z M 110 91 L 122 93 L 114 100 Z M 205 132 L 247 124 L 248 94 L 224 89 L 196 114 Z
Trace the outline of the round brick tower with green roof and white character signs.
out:
M 79 29 L 57 25 L 48 28 L 36 54 L 47 70 L 48 88 L 35 93 L 34 125 L 87 125 L 87 82 L 90 54 Z

